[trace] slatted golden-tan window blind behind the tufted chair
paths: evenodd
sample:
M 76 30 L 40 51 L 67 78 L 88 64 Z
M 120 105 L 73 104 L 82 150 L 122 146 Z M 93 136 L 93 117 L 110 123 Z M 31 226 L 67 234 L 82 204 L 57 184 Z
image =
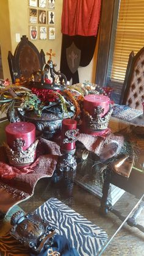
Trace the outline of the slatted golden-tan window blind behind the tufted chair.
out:
M 124 81 L 129 54 L 144 46 L 144 1 L 121 0 L 111 72 L 112 81 Z

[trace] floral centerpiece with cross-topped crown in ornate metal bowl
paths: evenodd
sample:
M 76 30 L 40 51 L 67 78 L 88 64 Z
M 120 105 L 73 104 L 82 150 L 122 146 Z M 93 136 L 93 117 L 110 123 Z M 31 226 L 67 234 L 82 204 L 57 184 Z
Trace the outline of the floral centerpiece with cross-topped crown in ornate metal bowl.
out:
M 56 71 L 52 62 L 51 57 L 56 54 L 50 49 L 47 55 L 49 60 L 43 70 L 32 73 L 29 79 L 16 79 L 15 85 L 2 89 L 1 109 L 7 109 L 10 122 L 34 123 L 49 139 L 59 132 L 63 119 L 74 117 L 76 109 L 66 92 L 66 76 Z

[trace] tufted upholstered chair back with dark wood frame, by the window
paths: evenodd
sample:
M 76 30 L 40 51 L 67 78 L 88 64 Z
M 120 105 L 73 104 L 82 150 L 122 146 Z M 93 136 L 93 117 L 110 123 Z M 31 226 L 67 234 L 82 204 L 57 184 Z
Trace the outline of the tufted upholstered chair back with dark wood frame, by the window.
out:
M 144 47 L 134 56 L 129 54 L 129 61 L 121 91 L 120 104 L 143 110 L 144 101 Z

